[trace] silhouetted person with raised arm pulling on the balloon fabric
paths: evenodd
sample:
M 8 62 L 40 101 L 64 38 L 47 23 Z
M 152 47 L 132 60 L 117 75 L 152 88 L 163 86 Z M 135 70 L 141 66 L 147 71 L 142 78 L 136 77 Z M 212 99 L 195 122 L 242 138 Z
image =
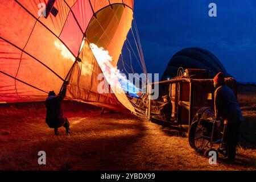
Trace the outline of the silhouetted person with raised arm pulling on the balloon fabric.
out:
M 67 92 L 68 81 L 64 82 L 63 89 L 56 96 L 54 91 L 49 92 L 46 99 L 46 123 L 50 128 L 54 129 L 55 135 L 59 135 L 58 128 L 65 127 L 66 133 L 70 135 L 68 119 L 63 117 L 63 111 L 61 110 L 61 102 L 64 100 Z

